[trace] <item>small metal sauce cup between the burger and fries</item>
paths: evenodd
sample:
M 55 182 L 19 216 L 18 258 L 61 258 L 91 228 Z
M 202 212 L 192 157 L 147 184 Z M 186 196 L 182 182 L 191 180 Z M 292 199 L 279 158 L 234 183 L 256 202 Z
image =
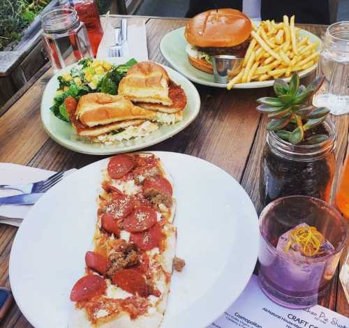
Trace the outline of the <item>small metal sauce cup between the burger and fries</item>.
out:
M 242 70 L 244 58 L 221 54 L 212 56 L 212 66 L 214 68 L 214 80 L 217 83 L 228 83 Z

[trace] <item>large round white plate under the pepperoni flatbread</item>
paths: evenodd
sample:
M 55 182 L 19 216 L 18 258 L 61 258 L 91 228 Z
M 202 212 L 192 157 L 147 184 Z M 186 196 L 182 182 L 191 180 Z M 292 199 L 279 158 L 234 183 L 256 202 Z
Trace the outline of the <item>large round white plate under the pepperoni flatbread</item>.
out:
M 258 217 L 244 189 L 200 158 L 154 152 L 174 181 L 177 255 L 162 328 L 202 328 L 239 297 L 258 254 Z M 96 194 L 107 159 L 70 174 L 47 191 L 24 219 L 10 254 L 10 283 L 36 328 L 64 328 L 70 290 L 84 273 L 96 223 Z

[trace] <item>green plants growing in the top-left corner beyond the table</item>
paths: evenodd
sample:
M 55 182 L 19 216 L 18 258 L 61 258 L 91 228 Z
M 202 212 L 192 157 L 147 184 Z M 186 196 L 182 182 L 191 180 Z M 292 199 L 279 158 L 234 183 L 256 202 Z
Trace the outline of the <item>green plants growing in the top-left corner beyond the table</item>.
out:
M 50 0 L 0 0 L 0 51 L 22 38 L 22 32 Z

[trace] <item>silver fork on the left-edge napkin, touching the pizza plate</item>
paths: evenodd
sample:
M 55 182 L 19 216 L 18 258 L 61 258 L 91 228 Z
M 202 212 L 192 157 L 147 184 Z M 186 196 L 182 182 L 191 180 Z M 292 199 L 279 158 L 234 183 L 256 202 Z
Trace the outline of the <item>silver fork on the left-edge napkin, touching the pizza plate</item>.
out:
M 45 193 L 52 186 L 57 184 L 61 179 L 66 177 L 71 172 L 75 171 L 75 169 L 61 171 L 53 174 L 51 177 L 48 177 L 45 180 L 33 182 L 32 184 L 2 184 L 0 185 L 0 189 L 13 189 L 16 191 L 22 191 L 22 193 Z

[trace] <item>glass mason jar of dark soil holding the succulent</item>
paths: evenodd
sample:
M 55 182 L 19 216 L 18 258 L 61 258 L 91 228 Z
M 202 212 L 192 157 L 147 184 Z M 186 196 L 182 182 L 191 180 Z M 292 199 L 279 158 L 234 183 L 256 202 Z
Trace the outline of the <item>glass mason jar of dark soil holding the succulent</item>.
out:
M 291 144 L 269 131 L 260 163 L 260 202 L 263 205 L 292 195 L 329 201 L 336 167 L 336 131 L 330 119 L 323 125 L 328 139 L 311 145 Z

